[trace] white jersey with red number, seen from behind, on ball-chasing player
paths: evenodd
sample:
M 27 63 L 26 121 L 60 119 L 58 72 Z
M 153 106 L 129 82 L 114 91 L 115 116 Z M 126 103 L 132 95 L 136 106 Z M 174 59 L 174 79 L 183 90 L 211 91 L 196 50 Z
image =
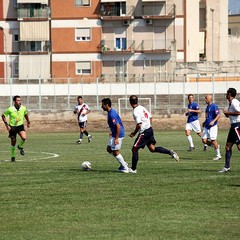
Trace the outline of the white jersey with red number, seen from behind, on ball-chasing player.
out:
M 150 119 L 152 118 L 152 115 L 148 112 L 148 110 L 141 106 L 138 105 L 133 109 L 133 118 L 136 122 L 136 124 L 141 123 L 141 129 L 140 133 L 142 133 L 144 130 L 148 129 L 151 127 L 151 122 Z

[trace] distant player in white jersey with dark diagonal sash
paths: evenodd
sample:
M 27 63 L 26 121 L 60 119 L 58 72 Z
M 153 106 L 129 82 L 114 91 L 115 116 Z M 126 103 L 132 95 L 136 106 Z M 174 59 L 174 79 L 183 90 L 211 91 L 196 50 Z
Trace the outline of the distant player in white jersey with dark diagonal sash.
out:
M 88 142 L 91 142 L 92 136 L 86 130 L 87 127 L 87 114 L 90 113 L 90 107 L 83 102 L 82 96 L 77 97 L 78 104 L 74 106 L 73 113 L 77 114 L 78 125 L 80 136 L 79 140 L 76 143 L 81 144 L 83 139 L 83 134 L 85 134 L 88 138 Z

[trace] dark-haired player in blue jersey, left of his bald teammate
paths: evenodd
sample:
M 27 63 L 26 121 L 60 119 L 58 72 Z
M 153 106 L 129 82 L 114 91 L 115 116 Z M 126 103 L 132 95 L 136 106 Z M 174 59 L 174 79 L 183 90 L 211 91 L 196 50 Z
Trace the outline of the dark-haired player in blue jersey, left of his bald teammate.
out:
M 193 139 L 191 136 L 191 131 L 193 130 L 199 137 L 202 137 L 202 130 L 200 126 L 200 122 L 198 119 L 198 114 L 201 113 L 201 110 L 199 108 L 198 103 L 194 101 L 194 96 L 193 94 L 188 95 L 188 110 L 185 113 L 185 115 L 188 117 L 187 118 L 187 123 L 185 126 L 185 134 L 187 136 L 187 140 L 189 143 L 189 148 L 188 151 L 191 152 L 195 149 L 194 144 L 193 144 Z M 207 150 L 207 145 L 204 145 L 203 148 L 204 151 Z

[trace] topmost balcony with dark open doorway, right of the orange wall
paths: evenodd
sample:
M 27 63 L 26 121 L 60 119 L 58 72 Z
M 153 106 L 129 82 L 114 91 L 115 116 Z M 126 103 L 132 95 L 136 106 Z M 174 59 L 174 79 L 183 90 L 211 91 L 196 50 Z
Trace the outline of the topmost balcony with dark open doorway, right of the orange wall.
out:
M 102 3 L 100 16 L 104 21 L 134 19 L 134 6 L 126 6 L 125 2 Z

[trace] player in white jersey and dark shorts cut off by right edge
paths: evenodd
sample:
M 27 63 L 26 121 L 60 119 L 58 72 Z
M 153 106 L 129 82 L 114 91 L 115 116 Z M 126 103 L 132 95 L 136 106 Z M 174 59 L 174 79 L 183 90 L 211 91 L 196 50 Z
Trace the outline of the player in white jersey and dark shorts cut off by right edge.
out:
M 232 157 L 232 147 L 237 145 L 240 151 L 240 102 L 235 98 L 237 91 L 235 88 L 227 90 L 226 98 L 229 101 L 229 107 L 224 110 L 224 114 L 230 120 L 230 130 L 226 141 L 225 166 L 220 173 L 230 171 L 230 159 Z

